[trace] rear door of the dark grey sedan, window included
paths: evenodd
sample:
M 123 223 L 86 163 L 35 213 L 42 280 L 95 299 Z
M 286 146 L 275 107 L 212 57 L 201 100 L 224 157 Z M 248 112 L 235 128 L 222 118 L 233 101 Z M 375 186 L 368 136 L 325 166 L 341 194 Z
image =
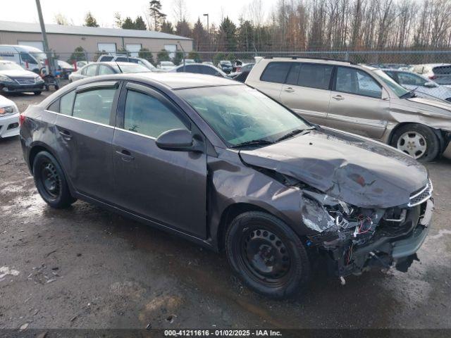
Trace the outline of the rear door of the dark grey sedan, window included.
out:
M 112 194 L 111 143 L 118 82 L 94 82 L 61 97 L 56 118 L 58 144 L 68 163 L 66 172 L 75 189 L 109 201 Z

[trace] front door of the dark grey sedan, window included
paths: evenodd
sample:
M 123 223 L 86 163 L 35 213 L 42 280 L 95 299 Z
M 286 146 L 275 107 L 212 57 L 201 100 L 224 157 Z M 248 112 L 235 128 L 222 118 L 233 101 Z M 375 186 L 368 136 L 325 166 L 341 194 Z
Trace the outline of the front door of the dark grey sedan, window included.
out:
M 206 154 L 159 149 L 155 139 L 191 129 L 185 113 L 159 92 L 129 83 L 113 137 L 115 203 L 161 225 L 206 237 Z

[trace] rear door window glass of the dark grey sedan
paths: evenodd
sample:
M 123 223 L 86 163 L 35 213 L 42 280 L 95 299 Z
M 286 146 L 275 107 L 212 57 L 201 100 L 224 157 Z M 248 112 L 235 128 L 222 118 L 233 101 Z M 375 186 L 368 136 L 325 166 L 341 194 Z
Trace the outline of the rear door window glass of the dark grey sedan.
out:
M 73 116 L 109 125 L 116 89 L 101 88 L 76 94 Z

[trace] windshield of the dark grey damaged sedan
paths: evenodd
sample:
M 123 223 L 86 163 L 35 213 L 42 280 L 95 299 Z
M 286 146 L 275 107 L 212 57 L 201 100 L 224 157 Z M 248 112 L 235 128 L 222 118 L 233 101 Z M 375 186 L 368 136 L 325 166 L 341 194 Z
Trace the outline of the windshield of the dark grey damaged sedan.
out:
M 228 146 L 264 140 L 276 142 L 310 125 L 276 101 L 247 86 L 180 89 L 180 96 Z

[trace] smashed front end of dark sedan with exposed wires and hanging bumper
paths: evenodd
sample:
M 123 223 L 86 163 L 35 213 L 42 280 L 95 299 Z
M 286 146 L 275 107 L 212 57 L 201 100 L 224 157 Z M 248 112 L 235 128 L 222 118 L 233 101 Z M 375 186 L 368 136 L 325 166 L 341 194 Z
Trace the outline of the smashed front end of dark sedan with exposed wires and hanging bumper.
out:
M 302 189 L 302 223 L 314 234 L 307 246 L 326 257 L 339 277 L 359 275 L 372 266 L 406 272 L 431 224 L 432 184 L 395 208 L 359 208 L 311 189 Z M 343 281 L 343 279 L 342 279 Z

